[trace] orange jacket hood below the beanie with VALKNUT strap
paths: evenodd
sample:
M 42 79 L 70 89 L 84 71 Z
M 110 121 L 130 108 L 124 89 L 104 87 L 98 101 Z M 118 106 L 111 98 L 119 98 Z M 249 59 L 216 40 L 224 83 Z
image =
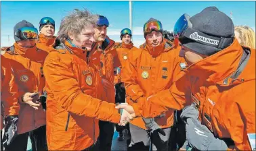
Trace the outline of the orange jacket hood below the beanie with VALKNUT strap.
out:
M 238 40 L 235 39 L 230 47 L 190 65 L 186 72 L 190 75 L 200 75 L 200 78 L 206 78 L 207 81 L 221 86 L 229 86 L 233 80 L 230 76 L 238 69 L 243 52 Z M 249 80 L 255 79 L 247 76 Z

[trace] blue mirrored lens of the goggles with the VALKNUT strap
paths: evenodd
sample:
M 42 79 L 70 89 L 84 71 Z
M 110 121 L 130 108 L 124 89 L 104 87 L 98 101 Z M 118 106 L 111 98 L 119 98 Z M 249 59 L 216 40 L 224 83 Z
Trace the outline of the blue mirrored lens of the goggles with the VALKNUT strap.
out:
M 183 38 L 183 34 L 189 26 L 189 18 L 190 16 L 185 13 L 179 18 L 179 20 L 177 20 L 173 29 L 173 35 L 175 38 Z

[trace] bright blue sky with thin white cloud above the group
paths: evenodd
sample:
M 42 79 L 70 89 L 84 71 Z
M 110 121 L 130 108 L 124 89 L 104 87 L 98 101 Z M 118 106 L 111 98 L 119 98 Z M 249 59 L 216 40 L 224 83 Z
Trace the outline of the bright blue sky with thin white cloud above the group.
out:
M 139 47 L 145 42 L 142 27 L 150 18 L 160 20 L 163 30 L 173 30 L 177 19 L 184 13 L 194 16 L 205 7 L 215 6 L 231 17 L 234 25 L 247 25 L 255 30 L 255 1 L 133 1 L 133 43 Z M 108 36 L 120 42 L 120 32 L 129 28 L 129 1 L 1 1 L 1 47 L 14 43 L 15 24 L 22 20 L 39 29 L 41 18 L 48 16 L 60 21 L 73 9 L 88 9 L 108 18 Z M 9 40 L 8 40 L 9 35 Z

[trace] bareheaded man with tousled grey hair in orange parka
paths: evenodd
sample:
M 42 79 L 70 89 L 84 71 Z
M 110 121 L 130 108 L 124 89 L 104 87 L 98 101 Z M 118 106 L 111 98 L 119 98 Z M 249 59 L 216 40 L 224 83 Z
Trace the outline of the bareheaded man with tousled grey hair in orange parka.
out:
M 99 73 L 87 60 L 97 20 L 87 10 L 74 9 L 62 19 L 56 51 L 45 59 L 49 150 L 98 150 L 99 119 L 124 124 L 132 119 L 120 121 L 115 104 L 98 99 Z

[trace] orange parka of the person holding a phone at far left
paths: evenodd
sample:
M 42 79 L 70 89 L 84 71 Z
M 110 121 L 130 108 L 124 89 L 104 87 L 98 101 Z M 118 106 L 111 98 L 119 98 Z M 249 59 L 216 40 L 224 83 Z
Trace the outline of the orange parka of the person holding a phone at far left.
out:
M 42 65 L 28 59 L 26 53 L 27 51 L 36 51 L 36 49 L 36 47 L 25 49 L 15 43 L 4 54 L 9 59 L 12 69 L 14 69 L 14 78 L 18 85 L 19 93 L 43 92 L 45 78 L 43 77 Z M 18 101 L 20 102 L 18 134 L 26 133 L 45 125 L 45 111 L 43 111 L 42 107 L 35 110 L 22 102 L 21 97 L 18 98 Z

